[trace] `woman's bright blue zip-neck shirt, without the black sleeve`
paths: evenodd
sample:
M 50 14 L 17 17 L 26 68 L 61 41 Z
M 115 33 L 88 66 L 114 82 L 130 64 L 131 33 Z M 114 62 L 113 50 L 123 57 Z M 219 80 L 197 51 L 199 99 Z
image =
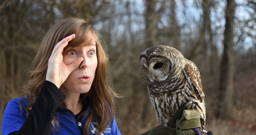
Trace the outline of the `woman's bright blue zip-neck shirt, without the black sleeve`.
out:
M 11 100 L 6 109 L 3 116 L 2 123 L 2 135 L 8 135 L 14 131 L 18 131 L 23 125 L 24 121 L 27 119 L 26 112 L 24 111 L 28 105 L 28 101 L 22 102 L 22 112 L 19 106 L 19 101 L 23 98 L 15 98 Z M 91 103 L 89 102 L 88 108 L 86 111 L 91 110 Z M 58 108 L 56 110 L 56 116 L 59 120 L 59 132 L 54 131 L 52 135 L 62 135 L 62 134 L 72 134 L 79 135 L 81 134 L 81 130 L 79 128 L 78 122 L 75 119 L 72 111 L 65 108 Z M 85 126 L 86 116 L 84 115 L 81 119 L 82 130 Z M 90 123 L 89 133 L 94 135 L 97 133 L 97 123 L 96 121 L 92 121 Z M 113 119 L 111 125 L 101 134 L 101 135 L 120 135 L 120 131 L 117 128 L 117 123 L 115 119 Z

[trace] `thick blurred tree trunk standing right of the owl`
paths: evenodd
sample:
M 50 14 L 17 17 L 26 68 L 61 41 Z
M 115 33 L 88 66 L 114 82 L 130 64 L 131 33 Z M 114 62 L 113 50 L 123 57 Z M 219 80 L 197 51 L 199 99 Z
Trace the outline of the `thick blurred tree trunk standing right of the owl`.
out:
M 224 32 L 224 50 L 220 69 L 220 95 L 219 112 L 217 116 L 225 119 L 232 117 L 232 97 L 234 79 L 234 16 L 235 0 L 227 0 L 226 6 L 226 25 Z

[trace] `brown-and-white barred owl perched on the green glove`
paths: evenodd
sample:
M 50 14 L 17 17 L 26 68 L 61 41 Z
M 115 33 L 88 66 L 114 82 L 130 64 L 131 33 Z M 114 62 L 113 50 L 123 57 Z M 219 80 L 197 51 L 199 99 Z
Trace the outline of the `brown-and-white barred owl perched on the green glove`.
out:
M 140 65 L 147 80 L 149 97 L 158 121 L 168 127 L 174 113 L 193 101 L 204 128 L 206 111 L 197 66 L 171 46 L 154 46 L 140 54 Z

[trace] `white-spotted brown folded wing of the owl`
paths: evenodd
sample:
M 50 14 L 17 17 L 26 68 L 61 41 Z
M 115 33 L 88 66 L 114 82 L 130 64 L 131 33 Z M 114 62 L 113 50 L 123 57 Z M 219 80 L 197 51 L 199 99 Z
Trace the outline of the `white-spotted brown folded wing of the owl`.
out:
M 187 64 L 185 65 L 185 68 L 184 68 L 184 74 L 187 78 L 189 85 L 191 86 L 194 93 L 196 94 L 197 98 L 200 99 L 200 101 L 202 101 L 204 94 L 203 94 L 200 73 L 197 69 L 196 64 L 194 64 L 194 62 L 190 60 L 187 60 Z

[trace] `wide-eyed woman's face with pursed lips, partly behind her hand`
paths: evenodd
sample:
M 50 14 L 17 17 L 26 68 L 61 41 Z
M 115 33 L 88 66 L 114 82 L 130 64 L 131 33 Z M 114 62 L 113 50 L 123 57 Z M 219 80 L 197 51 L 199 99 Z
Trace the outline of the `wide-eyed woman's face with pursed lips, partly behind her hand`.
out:
M 66 65 L 72 64 L 77 58 L 84 58 L 79 67 L 71 72 L 66 81 L 59 87 L 65 94 L 86 93 L 90 90 L 94 79 L 95 70 L 98 64 L 96 55 L 96 43 L 67 47 L 63 52 L 63 62 Z

